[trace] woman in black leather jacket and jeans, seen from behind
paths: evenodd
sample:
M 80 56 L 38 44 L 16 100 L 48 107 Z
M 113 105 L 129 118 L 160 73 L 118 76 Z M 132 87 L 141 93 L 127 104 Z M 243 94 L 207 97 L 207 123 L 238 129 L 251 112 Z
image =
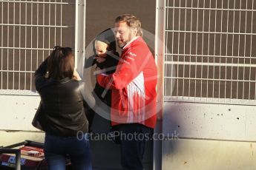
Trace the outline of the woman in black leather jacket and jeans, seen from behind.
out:
M 65 169 L 69 155 L 73 169 L 91 170 L 88 120 L 78 80 L 69 47 L 54 47 L 35 72 L 43 110 L 39 123 L 45 131 L 44 151 L 49 169 Z

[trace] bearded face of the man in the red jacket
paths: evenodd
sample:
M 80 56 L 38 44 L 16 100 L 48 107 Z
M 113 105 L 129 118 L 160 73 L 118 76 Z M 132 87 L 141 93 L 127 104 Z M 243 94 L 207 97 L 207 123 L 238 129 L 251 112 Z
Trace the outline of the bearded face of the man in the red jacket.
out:
M 128 27 L 126 22 L 116 22 L 115 23 L 115 34 L 116 34 L 116 41 L 118 47 L 122 48 L 126 44 L 128 44 L 131 39 L 136 37 L 137 32 L 132 30 L 131 27 Z

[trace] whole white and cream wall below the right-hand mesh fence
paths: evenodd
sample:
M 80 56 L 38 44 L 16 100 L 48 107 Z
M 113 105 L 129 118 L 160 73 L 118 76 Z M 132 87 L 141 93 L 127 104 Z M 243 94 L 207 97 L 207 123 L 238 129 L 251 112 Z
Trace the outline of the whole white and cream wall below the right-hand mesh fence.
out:
M 255 170 L 255 118 L 255 106 L 165 103 L 162 169 Z

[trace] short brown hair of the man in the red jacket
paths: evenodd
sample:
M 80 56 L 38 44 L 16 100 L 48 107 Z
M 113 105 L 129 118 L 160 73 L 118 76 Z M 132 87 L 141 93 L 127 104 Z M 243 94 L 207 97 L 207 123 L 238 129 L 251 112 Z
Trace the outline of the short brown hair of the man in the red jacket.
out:
M 140 20 L 131 14 L 124 14 L 122 16 L 117 16 L 115 22 L 126 22 L 129 27 L 137 29 L 137 36 L 142 36 L 142 28 Z

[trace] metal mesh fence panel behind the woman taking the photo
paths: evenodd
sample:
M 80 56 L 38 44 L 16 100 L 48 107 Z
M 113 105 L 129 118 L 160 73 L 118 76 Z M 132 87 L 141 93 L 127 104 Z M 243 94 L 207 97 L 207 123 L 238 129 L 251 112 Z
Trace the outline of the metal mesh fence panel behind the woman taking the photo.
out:
M 35 92 L 33 72 L 55 45 L 74 47 L 75 1 L 0 1 L 1 94 Z

